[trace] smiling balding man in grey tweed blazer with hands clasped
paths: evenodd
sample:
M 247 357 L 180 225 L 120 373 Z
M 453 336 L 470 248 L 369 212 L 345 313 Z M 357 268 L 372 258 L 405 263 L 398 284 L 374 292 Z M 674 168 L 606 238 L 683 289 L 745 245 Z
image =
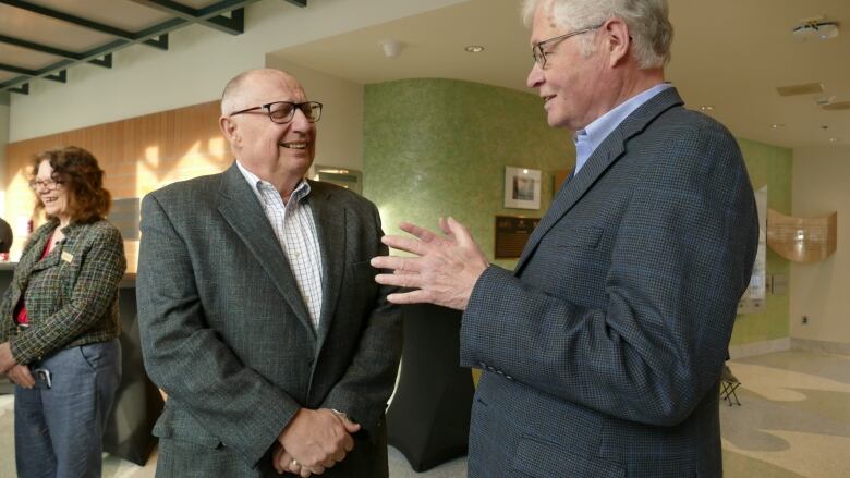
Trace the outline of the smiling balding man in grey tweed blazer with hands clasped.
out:
M 304 180 L 320 112 L 291 75 L 243 73 L 219 120 L 233 166 L 143 200 L 157 476 L 387 476 L 400 316 L 368 263 L 386 253 L 375 206 Z

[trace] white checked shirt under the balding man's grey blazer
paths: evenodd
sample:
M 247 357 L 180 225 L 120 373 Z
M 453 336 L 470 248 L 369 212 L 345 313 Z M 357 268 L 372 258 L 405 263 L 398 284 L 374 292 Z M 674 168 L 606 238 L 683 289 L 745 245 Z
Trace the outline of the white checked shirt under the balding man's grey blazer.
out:
M 299 292 L 307 306 L 314 330 L 318 330 L 321 317 L 321 253 L 319 250 L 316 222 L 306 200 L 309 184 L 301 183 L 292 192 L 288 203 L 267 181 L 263 181 L 236 161 L 239 170 L 257 195 L 283 254 L 287 255 Z

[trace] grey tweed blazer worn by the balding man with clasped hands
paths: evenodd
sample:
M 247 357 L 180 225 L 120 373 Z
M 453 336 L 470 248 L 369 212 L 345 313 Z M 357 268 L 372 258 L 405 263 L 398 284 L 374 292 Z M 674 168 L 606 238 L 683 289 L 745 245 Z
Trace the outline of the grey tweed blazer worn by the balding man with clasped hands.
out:
M 277 476 L 269 452 L 300 407 L 365 431 L 323 476 L 386 477 L 384 412 L 401 356 L 398 308 L 368 260 L 387 254 L 375 206 L 311 182 L 324 303 L 314 331 L 271 224 L 235 162 L 142 205 L 145 368 L 168 393 L 159 476 Z M 186 475 L 190 474 L 190 475 Z

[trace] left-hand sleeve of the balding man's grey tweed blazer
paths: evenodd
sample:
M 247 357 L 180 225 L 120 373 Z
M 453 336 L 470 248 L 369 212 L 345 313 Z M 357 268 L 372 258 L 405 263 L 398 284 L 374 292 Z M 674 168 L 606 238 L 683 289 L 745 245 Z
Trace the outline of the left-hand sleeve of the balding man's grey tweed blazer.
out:
M 256 464 L 299 404 L 207 327 L 186 245 L 155 195 L 142 204 L 138 319 L 151 380 L 205 430 Z

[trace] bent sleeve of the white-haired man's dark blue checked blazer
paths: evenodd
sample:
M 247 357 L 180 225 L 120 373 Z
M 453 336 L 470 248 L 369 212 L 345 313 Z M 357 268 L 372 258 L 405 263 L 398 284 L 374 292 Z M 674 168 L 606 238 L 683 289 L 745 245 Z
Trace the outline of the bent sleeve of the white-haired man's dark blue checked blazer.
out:
M 490 267 L 463 316 L 463 364 L 628 420 L 690 415 L 717 383 L 758 228 L 734 138 L 719 125 L 682 130 L 638 179 L 610 263 L 594 266 L 607 266 L 604 282 L 573 283 L 604 287 L 607 304 L 564 301 Z

